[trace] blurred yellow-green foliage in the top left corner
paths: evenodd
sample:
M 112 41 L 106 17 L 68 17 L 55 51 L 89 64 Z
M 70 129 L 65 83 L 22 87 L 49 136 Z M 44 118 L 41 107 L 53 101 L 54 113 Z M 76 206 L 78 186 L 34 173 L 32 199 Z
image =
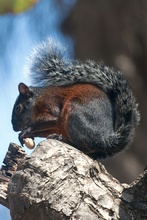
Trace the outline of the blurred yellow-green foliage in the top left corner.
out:
M 32 7 L 38 0 L 0 0 L 0 14 L 20 13 Z

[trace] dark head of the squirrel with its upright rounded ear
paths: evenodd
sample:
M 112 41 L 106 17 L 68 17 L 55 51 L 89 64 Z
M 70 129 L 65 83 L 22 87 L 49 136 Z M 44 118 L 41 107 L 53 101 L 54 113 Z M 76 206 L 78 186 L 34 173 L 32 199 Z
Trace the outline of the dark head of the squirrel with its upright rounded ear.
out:
M 22 131 L 31 124 L 33 90 L 24 83 L 18 85 L 19 96 L 13 107 L 12 125 L 14 131 Z

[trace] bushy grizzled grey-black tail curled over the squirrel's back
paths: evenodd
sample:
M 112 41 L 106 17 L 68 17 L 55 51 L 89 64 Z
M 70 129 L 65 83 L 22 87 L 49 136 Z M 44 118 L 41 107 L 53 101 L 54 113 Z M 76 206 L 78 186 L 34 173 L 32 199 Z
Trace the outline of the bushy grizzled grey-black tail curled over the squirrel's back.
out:
M 139 122 L 135 98 L 122 72 L 94 61 L 68 61 L 64 48 L 51 40 L 41 44 L 32 56 L 30 73 L 34 85 L 67 86 L 75 83 L 92 83 L 101 88 L 112 101 L 116 112 L 114 134 L 105 142 L 107 154 L 121 151 L 132 141 Z

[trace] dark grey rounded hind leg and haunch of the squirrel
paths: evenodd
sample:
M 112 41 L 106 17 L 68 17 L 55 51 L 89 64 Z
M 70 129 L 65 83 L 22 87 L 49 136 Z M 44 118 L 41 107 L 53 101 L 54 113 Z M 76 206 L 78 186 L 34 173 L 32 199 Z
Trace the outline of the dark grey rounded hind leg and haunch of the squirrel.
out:
M 77 149 L 93 159 L 106 158 L 107 140 L 114 133 L 114 110 L 109 99 L 78 104 L 69 118 L 68 131 Z

